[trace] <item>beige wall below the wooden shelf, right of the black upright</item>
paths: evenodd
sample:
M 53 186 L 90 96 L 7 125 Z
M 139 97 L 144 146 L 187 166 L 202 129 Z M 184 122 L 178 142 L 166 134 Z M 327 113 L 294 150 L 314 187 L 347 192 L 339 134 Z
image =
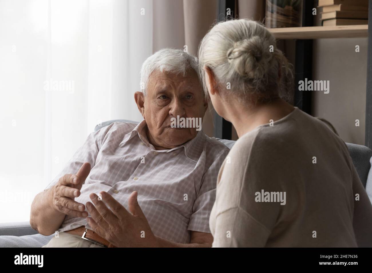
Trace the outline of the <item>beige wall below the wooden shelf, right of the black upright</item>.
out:
M 345 142 L 364 145 L 367 38 L 318 39 L 313 43 L 313 79 L 329 80 L 330 92 L 312 91 L 312 116 L 323 117 Z M 355 52 L 355 46 L 360 52 Z M 359 119 L 360 126 L 355 126 Z

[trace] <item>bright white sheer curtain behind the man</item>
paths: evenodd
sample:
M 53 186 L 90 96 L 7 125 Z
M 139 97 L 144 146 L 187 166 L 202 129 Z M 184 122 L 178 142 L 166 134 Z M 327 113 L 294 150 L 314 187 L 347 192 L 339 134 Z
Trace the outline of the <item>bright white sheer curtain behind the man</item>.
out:
M 0 0 L 0 222 L 32 200 L 96 124 L 140 120 L 152 0 Z

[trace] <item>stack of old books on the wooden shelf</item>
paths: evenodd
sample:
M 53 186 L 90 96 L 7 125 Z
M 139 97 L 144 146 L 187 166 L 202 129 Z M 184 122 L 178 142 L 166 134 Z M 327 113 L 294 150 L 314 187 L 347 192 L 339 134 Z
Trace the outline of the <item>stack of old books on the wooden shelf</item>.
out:
M 318 0 L 323 26 L 368 24 L 368 0 Z

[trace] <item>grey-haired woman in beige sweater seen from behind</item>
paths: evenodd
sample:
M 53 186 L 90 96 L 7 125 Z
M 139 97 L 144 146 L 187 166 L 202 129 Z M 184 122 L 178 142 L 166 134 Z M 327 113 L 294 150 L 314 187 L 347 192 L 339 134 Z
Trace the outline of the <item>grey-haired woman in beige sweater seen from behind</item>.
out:
M 290 69 L 273 35 L 254 21 L 219 23 L 199 62 L 239 136 L 218 174 L 213 246 L 371 247 L 372 206 L 347 147 L 280 98 Z

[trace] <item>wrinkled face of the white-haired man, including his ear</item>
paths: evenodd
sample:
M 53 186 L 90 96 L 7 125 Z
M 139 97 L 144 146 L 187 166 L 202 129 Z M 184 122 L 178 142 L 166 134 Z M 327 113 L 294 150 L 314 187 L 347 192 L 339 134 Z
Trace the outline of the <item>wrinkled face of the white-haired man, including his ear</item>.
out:
M 171 118 L 203 118 L 208 104 L 195 71 L 182 74 L 154 71 L 148 79 L 146 96 L 135 100 L 148 127 L 148 140 L 157 149 L 172 149 L 193 139 L 196 128 L 172 128 Z

